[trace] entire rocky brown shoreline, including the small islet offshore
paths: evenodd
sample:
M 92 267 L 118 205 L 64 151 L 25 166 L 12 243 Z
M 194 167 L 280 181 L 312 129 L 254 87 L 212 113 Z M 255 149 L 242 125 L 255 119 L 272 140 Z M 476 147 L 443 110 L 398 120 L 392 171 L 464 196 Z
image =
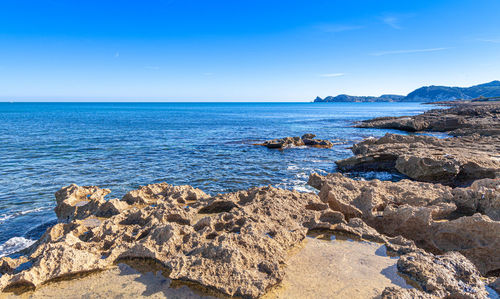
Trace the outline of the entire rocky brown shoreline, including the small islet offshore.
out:
M 317 194 L 259 187 L 214 196 L 159 183 L 110 200 L 108 189 L 64 187 L 55 194 L 59 223 L 15 258 L 0 259 L 0 296 L 36 297 L 55 281 L 133 262 L 206 294 L 259 298 L 289 280 L 300 244 L 342 234 L 383 244 L 414 286 L 378 286 L 371 290 L 378 297 L 487 298 L 487 284 L 500 288 L 499 107 L 461 103 L 363 122 L 460 137 L 388 134 L 355 145 L 355 157 L 337 162 L 343 171 L 390 170 L 412 180 L 312 174 L 308 184 Z M 297 138 L 305 145 L 314 137 Z M 282 141 L 267 144 L 288 147 Z

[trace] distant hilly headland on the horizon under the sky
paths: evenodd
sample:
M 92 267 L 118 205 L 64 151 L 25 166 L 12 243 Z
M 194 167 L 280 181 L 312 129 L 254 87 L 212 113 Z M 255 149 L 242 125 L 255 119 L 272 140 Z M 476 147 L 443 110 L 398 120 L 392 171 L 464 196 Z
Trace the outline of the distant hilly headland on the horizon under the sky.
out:
M 500 81 L 492 81 L 471 87 L 425 86 L 407 96 L 382 95 L 380 97 L 360 97 L 341 94 L 336 97 L 317 97 L 314 102 L 436 102 L 457 99 L 470 100 L 479 97 L 500 96 Z

